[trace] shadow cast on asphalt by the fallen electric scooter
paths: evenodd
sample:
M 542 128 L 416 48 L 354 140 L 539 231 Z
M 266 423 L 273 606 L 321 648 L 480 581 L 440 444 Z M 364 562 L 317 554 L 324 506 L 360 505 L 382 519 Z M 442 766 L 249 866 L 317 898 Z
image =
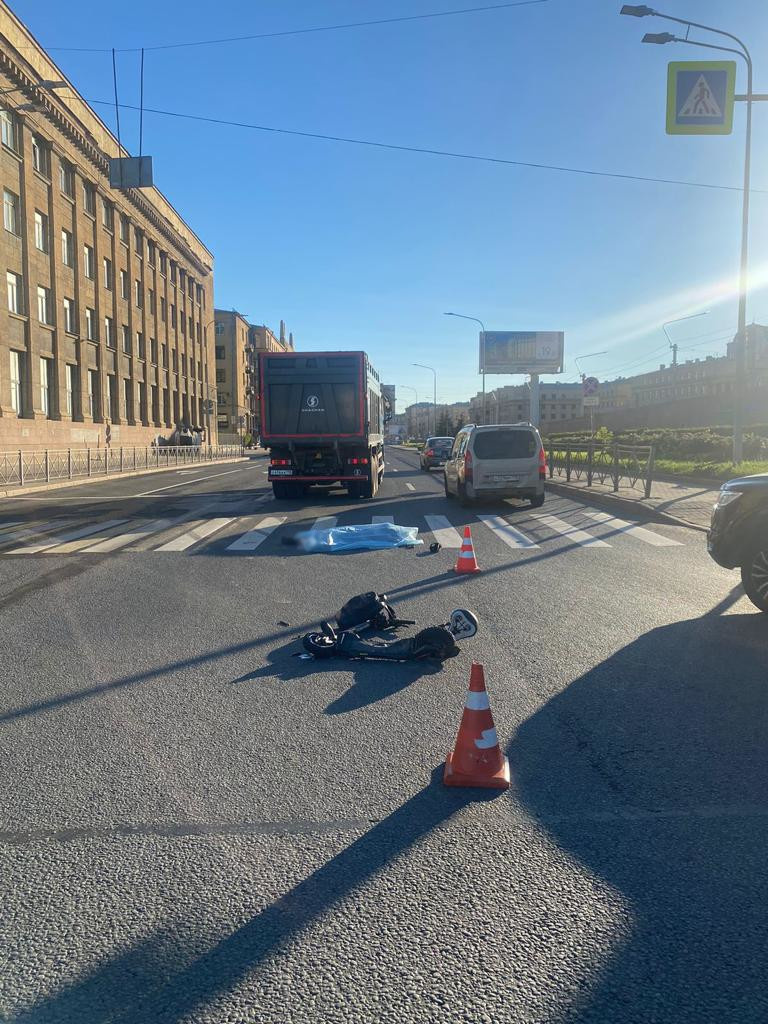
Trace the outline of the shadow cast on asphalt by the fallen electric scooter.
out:
M 376 635 L 393 639 L 399 634 Z M 325 671 L 345 672 L 352 676 L 353 684 L 326 708 L 327 715 L 343 715 L 376 703 L 377 700 L 384 700 L 403 690 L 417 679 L 434 676 L 442 671 L 442 665 L 438 662 L 367 662 L 342 657 L 310 662 L 295 656 L 302 650 L 300 640 L 292 640 L 282 647 L 275 647 L 267 655 L 267 665 L 233 679 L 232 683 L 248 683 L 264 678 L 288 682 L 293 679 L 306 679 L 307 676 L 319 676 Z

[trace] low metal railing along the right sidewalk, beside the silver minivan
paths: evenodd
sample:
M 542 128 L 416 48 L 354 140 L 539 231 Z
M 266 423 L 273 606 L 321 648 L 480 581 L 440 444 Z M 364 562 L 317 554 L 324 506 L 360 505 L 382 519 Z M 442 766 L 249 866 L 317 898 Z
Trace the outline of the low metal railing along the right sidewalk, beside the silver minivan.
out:
M 650 498 L 653 483 L 655 450 L 652 444 L 605 444 L 597 441 L 579 444 L 554 442 L 547 452 L 550 479 L 564 476 L 584 480 L 588 487 L 595 481 L 604 484 L 609 480 L 617 492 L 622 481 L 626 486 L 638 489 L 642 486 L 645 498 Z

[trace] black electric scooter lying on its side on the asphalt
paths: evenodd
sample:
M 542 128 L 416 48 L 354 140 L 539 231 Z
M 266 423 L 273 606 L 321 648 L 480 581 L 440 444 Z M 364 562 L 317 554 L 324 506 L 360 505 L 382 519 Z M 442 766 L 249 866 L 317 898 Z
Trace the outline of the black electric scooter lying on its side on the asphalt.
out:
M 386 594 L 374 591 L 359 594 L 344 605 L 336 616 L 338 628 L 322 623 L 319 632 L 302 638 L 304 650 L 314 657 L 380 658 L 387 662 L 439 662 L 459 653 L 457 640 L 467 640 L 477 633 L 477 616 L 466 608 L 456 608 L 447 623 L 429 626 L 414 637 L 387 640 L 362 637 L 369 629 L 388 630 L 415 626 L 411 618 L 398 618 L 387 602 Z

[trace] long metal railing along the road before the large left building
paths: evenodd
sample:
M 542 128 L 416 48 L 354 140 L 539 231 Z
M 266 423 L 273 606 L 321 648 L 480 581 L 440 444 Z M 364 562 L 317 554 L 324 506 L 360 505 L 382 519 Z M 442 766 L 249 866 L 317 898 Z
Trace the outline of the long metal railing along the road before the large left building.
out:
M 23 487 L 54 480 L 80 480 L 167 466 L 237 459 L 240 444 L 147 445 L 145 447 L 66 449 L 0 452 L 0 486 Z

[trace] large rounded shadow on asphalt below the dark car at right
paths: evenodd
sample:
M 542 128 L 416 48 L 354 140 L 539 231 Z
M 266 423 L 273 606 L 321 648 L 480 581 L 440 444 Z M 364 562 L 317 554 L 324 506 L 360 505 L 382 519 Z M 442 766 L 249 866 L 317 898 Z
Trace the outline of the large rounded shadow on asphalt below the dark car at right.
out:
M 564 1022 L 768 1020 L 768 629 L 722 614 L 738 597 L 628 644 L 508 749 L 527 810 L 631 920 Z

